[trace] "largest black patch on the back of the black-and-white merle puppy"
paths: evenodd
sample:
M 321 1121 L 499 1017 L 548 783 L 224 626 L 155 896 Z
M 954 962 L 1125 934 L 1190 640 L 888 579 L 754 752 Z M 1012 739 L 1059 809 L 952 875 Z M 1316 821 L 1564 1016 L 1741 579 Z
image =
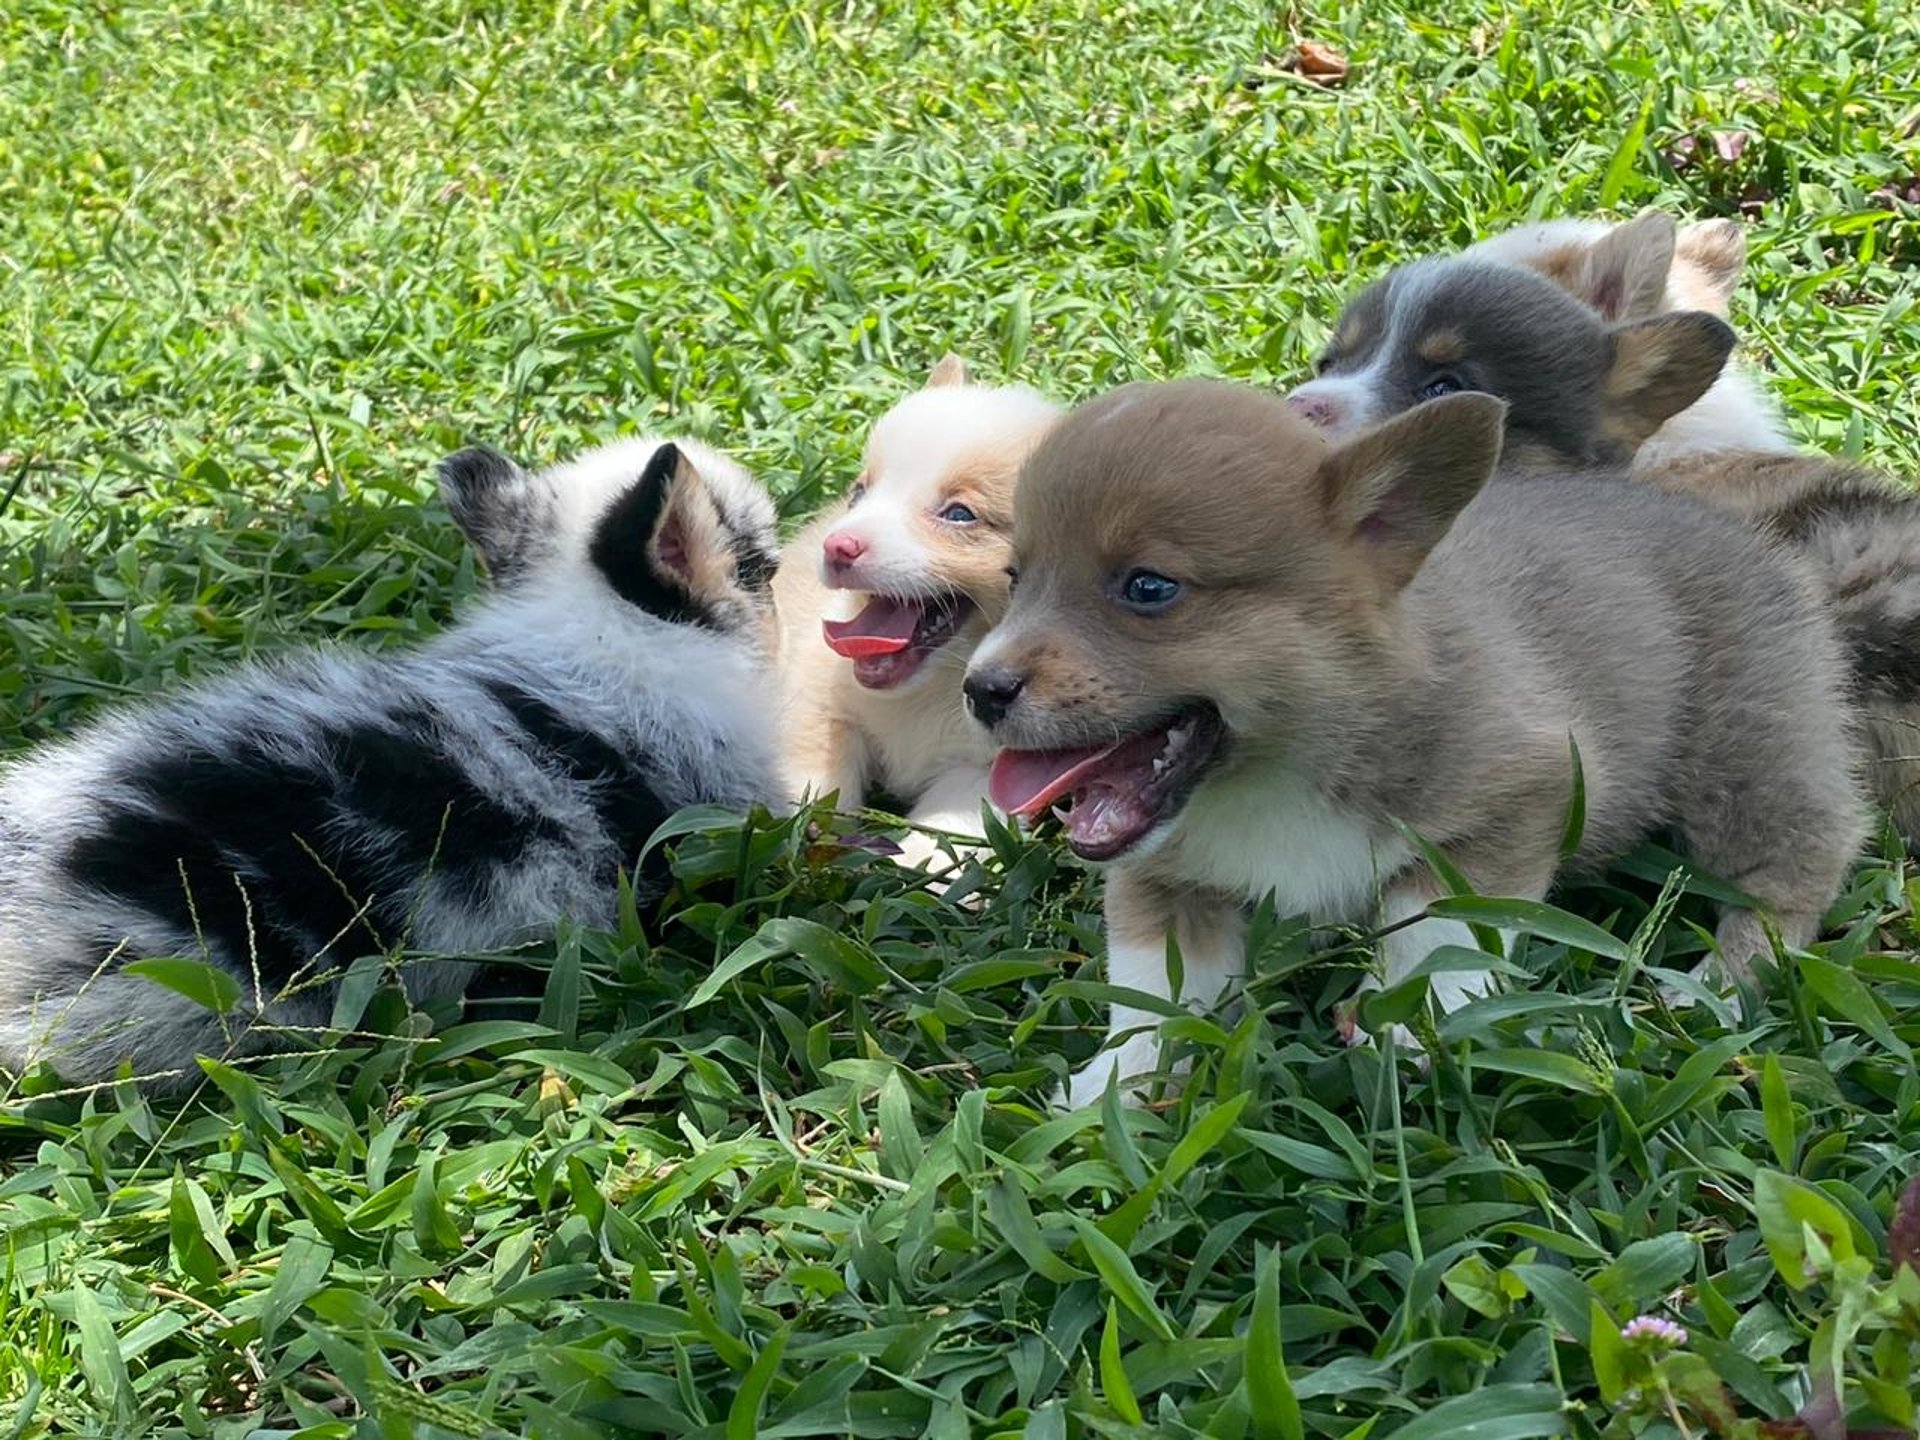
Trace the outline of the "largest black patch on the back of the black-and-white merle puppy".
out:
M 215 960 L 257 962 L 271 989 L 403 939 L 428 874 L 478 893 L 551 833 L 476 789 L 424 710 L 323 732 L 300 756 L 263 737 L 186 747 L 121 785 L 131 799 L 69 849 L 67 874 L 198 927 Z

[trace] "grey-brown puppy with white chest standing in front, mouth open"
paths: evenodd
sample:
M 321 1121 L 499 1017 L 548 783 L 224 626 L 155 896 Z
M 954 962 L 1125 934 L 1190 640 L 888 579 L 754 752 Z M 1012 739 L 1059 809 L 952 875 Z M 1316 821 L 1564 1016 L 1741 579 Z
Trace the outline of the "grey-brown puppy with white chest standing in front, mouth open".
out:
M 966 695 L 993 799 L 1062 804 L 1112 862 L 1108 979 L 1188 998 L 1238 975 L 1244 906 L 1394 924 L 1442 893 L 1396 818 L 1482 893 L 1544 897 L 1657 828 L 1812 939 L 1860 839 L 1837 645 L 1799 572 L 1728 515 L 1624 480 L 1488 476 L 1503 405 L 1450 396 L 1329 445 L 1284 401 L 1127 386 L 1035 451 L 1018 584 Z M 1382 937 L 1384 977 L 1457 922 Z M 1766 948 L 1730 910 L 1720 960 Z M 1442 1006 L 1484 973 L 1436 975 Z M 1085 1104 L 1154 1068 L 1125 1006 Z

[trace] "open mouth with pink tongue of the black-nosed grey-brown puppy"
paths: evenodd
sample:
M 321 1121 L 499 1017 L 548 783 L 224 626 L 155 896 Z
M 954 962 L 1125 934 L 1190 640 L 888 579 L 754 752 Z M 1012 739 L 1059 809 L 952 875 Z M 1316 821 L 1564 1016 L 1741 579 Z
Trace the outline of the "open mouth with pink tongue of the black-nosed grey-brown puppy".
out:
M 1225 739 L 1219 710 L 1188 705 L 1112 745 L 1000 751 L 987 793 L 1002 810 L 1027 820 L 1054 806 L 1075 854 L 1112 860 L 1187 803 Z

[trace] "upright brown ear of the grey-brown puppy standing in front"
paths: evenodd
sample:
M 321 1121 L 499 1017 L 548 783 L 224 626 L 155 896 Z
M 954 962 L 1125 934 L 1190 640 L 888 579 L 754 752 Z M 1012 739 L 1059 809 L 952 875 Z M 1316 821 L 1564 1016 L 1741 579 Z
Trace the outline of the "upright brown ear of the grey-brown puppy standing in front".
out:
M 1319 467 L 1334 532 L 1405 586 L 1500 465 L 1505 417 L 1494 396 L 1444 396 L 1340 445 Z

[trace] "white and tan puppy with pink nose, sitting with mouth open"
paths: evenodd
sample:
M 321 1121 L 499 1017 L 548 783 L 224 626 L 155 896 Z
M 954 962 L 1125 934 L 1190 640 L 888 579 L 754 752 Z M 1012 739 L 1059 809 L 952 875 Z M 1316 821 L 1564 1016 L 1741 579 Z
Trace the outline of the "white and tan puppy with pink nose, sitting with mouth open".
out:
M 1006 609 L 1014 478 L 1060 409 L 979 386 L 948 355 L 874 426 L 845 503 L 808 524 L 774 578 L 783 768 L 795 799 L 876 791 L 922 831 L 981 833 L 993 745 L 960 701 L 973 645 Z

